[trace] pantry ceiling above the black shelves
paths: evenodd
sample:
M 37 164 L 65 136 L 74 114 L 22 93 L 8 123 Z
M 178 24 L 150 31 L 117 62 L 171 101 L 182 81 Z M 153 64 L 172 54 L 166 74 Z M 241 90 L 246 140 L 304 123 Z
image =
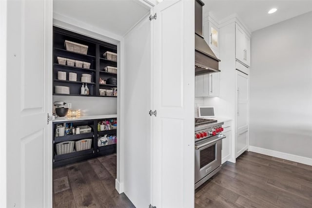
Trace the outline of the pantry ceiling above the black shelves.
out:
M 137 0 L 53 0 L 53 12 L 123 36 L 149 8 Z

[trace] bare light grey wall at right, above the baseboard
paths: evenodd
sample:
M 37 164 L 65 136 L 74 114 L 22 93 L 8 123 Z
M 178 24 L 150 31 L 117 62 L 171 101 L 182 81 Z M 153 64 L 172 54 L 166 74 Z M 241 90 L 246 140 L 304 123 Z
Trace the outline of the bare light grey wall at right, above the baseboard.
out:
M 312 158 L 312 12 L 252 34 L 249 145 Z

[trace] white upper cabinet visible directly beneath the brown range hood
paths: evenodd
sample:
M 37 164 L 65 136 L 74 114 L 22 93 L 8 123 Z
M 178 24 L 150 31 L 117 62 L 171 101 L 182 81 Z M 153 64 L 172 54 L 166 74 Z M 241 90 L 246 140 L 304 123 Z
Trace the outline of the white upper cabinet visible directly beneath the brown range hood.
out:
M 218 97 L 220 73 L 195 76 L 195 97 Z

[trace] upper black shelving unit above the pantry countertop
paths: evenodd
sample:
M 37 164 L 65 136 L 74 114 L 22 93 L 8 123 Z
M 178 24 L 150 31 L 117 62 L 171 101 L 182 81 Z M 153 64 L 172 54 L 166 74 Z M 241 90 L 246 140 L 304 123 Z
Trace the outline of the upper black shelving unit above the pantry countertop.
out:
M 86 55 L 79 54 L 72 51 L 67 51 L 64 47 L 65 40 L 73 41 L 76 43 L 84 44 L 88 46 L 88 52 Z M 53 28 L 53 95 L 64 95 L 64 96 L 86 96 L 80 95 L 81 74 L 90 74 L 92 76 L 91 82 L 87 83 L 89 88 L 89 96 L 99 97 L 117 97 L 117 96 L 101 96 L 99 95 L 99 89 L 112 89 L 117 85 L 102 85 L 99 84 L 99 78 L 107 80 L 110 77 L 116 77 L 117 74 L 105 72 L 106 66 L 117 67 L 117 61 L 109 60 L 103 57 L 105 52 L 117 53 L 117 46 L 114 44 L 106 43 L 94 38 L 86 37 L 71 31 L 67 31 L 58 27 Z M 90 69 L 80 68 L 76 66 L 67 66 L 58 63 L 57 57 L 65 57 L 73 60 L 89 62 Z M 67 73 L 67 80 L 58 79 L 58 71 Z M 77 73 L 77 81 L 69 81 L 68 73 Z M 56 94 L 55 86 L 66 86 L 70 88 L 70 94 Z

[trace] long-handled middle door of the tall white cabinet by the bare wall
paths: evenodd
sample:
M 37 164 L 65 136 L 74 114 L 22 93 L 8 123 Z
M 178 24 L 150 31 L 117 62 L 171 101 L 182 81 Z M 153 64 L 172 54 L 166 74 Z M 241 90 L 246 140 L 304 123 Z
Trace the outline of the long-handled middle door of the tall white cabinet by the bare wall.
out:
M 249 76 L 236 70 L 236 132 L 248 129 Z

